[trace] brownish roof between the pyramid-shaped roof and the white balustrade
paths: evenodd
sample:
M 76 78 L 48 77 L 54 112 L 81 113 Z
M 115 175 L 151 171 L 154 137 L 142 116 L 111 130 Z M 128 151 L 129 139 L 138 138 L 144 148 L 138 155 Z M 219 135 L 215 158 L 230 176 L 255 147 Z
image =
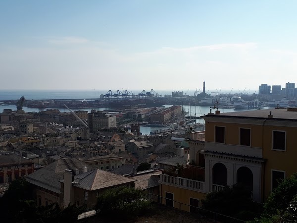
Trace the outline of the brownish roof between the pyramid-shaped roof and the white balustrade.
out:
M 136 179 L 135 188 L 147 189 L 147 188 L 159 185 L 158 180 L 156 180 L 156 178 L 151 179 L 151 176 L 153 175 L 158 176 L 161 173 L 162 171 L 158 170 L 158 171 L 153 171 L 146 174 L 133 176 L 133 179 Z

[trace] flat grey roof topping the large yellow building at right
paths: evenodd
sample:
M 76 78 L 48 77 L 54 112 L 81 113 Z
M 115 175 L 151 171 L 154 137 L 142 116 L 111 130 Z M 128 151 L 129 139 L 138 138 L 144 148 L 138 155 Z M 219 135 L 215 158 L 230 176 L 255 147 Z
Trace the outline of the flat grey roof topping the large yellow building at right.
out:
M 217 114 L 217 115 L 205 115 L 205 116 L 207 116 L 207 117 L 214 116 L 214 117 L 268 118 L 270 111 L 271 111 L 271 115 L 273 115 L 273 118 L 269 118 L 269 119 L 296 119 L 297 120 L 297 111 L 287 111 L 287 109 L 273 109 L 273 108 L 254 110 L 254 111 L 226 112 L 226 113 L 221 113 L 221 114 Z

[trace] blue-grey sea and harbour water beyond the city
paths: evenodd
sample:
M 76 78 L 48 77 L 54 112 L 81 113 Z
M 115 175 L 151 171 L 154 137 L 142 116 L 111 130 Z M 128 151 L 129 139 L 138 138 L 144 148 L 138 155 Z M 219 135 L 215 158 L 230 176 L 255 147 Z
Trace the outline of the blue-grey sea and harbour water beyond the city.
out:
M 49 91 L 49 90 L 0 90 L 0 101 L 1 100 L 17 100 L 21 96 L 25 96 L 25 99 L 27 100 L 47 100 L 47 99 L 98 99 L 100 94 L 106 94 L 108 90 L 60 90 L 60 91 Z M 114 91 L 115 92 L 115 91 Z M 131 91 L 130 91 L 131 92 Z M 138 94 L 139 90 L 135 90 L 132 92 L 137 92 Z M 185 91 L 184 91 L 185 92 Z M 187 92 L 187 91 L 186 91 Z M 195 91 L 189 91 L 189 95 L 194 95 Z M 171 95 L 172 91 L 158 91 L 158 94 L 160 95 Z M 166 108 L 170 107 L 172 105 L 164 105 Z M 269 107 L 263 107 L 260 109 L 268 109 Z M 11 109 L 16 110 L 16 105 L 0 105 L 0 112 L 3 112 L 3 109 Z M 27 108 L 23 107 L 23 110 L 26 112 L 39 112 L 39 111 L 45 111 L 47 109 L 38 109 L 38 108 Z M 97 111 L 103 111 L 108 110 L 111 108 L 92 108 L 92 109 L 80 109 L 84 111 L 91 111 L 93 109 L 96 109 Z M 187 111 L 189 115 L 191 116 L 202 116 L 204 114 L 209 113 L 210 107 L 209 106 L 190 106 L 190 105 L 183 105 L 184 111 Z M 233 111 L 247 111 L 247 110 L 256 110 L 256 109 L 220 109 L 221 113 L 225 112 L 233 112 Z M 68 112 L 67 109 L 59 109 L 60 112 Z M 213 110 L 212 110 L 213 111 Z M 204 123 L 204 119 L 196 119 L 194 123 Z M 141 126 L 140 131 L 144 135 L 149 135 L 150 132 L 154 132 L 155 130 L 162 130 L 165 129 L 165 127 L 148 127 L 148 126 Z

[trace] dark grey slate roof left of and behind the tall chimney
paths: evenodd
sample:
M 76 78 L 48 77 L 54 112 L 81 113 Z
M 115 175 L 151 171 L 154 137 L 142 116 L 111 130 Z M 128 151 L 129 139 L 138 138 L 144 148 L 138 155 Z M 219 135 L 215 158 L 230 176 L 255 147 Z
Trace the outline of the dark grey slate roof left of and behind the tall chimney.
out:
M 27 181 L 30 183 L 53 191 L 55 193 L 60 193 L 60 183 L 58 180 L 63 179 L 63 173 L 65 169 L 72 170 L 73 174 L 76 174 L 76 169 L 80 173 L 83 172 L 83 167 L 88 167 L 92 169 L 91 166 L 75 159 L 75 158 L 63 158 L 61 160 L 55 161 L 46 167 L 34 171 L 33 173 L 25 176 Z

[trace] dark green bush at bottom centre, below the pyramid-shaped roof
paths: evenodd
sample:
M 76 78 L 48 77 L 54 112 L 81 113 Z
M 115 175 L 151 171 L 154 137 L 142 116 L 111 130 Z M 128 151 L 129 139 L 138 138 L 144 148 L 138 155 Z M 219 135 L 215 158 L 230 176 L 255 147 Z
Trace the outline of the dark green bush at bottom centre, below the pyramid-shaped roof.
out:
M 142 190 L 133 187 L 112 188 L 99 195 L 96 211 L 105 217 L 133 219 L 148 212 L 150 202 L 144 197 Z

